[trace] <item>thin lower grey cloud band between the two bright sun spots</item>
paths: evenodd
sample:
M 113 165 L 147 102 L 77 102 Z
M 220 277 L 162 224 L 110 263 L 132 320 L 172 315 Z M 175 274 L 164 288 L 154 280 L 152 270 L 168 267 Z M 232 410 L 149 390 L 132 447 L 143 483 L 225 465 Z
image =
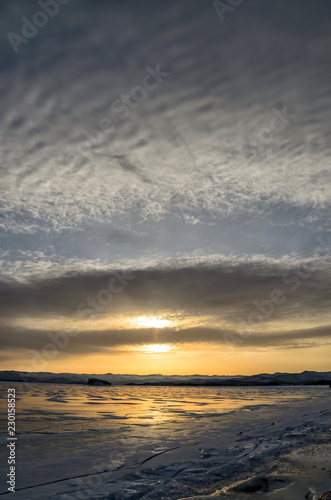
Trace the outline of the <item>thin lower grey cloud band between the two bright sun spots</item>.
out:
M 219 344 L 230 348 L 249 349 L 251 347 L 293 349 L 331 344 L 331 324 L 322 327 L 299 329 L 297 331 L 274 332 L 269 334 L 238 335 L 236 330 L 213 328 L 187 328 L 182 330 L 164 329 L 156 334 L 154 329 L 105 330 L 82 332 L 79 335 L 64 336 L 63 332 L 19 330 L 0 328 L 0 338 L 4 352 L 42 352 L 51 344 L 62 356 L 111 352 L 118 347 L 132 352 L 139 346 L 166 343 L 184 347 L 189 344 Z M 67 340 L 69 338 L 69 341 Z M 121 351 L 122 352 L 122 351 Z

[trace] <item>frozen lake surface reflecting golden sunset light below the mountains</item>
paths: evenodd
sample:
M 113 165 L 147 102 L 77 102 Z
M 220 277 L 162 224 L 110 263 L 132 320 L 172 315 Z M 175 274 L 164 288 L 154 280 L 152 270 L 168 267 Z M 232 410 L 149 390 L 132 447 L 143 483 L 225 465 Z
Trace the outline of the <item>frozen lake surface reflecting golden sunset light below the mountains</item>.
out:
M 328 387 L 4 382 L 2 470 L 9 387 L 17 399 L 17 499 L 178 500 L 330 426 Z

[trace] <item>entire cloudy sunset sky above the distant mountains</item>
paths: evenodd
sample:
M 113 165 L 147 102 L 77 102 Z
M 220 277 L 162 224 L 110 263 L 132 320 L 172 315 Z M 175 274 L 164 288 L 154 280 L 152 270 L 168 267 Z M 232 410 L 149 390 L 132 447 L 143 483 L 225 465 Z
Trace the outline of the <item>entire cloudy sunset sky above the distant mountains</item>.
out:
M 4 0 L 3 370 L 330 368 L 328 0 Z

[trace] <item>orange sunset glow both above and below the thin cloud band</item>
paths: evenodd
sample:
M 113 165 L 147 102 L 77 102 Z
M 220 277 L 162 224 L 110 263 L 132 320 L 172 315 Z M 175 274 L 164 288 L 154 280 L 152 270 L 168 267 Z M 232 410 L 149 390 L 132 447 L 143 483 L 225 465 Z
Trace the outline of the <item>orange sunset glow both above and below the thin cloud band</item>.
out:
M 45 341 L 38 351 L 17 350 L 13 352 L 12 359 L 15 362 L 2 362 L 2 369 L 16 370 L 26 372 L 54 372 L 54 373 L 116 373 L 116 374 L 135 374 L 149 375 L 160 373 L 163 375 L 253 375 L 256 373 L 275 373 L 275 372 L 302 372 L 304 370 L 329 371 L 329 359 L 331 355 L 331 346 L 322 345 L 318 339 L 315 345 L 288 346 L 250 346 L 244 342 L 233 345 L 218 343 L 211 340 L 200 340 L 199 342 L 188 341 L 185 329 L 195 326 L 208 325 L 214 326 L 214 317 L 210 316 L 189 316 L 184 312 L 162 313 L 162 314 L 133 314 L 104 316 L 95 321 L 90 319 L 69 320 L 62 317 L 51 318 L 17 318 L 16 326 L 31 325 L 30 329 L 42 330 L 42 327 L 51 327 L 45 333 Z M 226 323 L 226 319 L 219 322 L 220 326 L 227 326 L 229 331 L 234 331 L 235 323 Z M 269 322 L 263 325 L 264 332 L 270 333 L 277 331 L 286 331 L 292 326 L 292 331 L 303 327 L 316 326 L 314 319 L 310 324 L 305 319 L 299 319 L 297 322 L 288 324 L 287 321 L 280 324 L 279 320 Z M 66 330 L 64 326 L 69 324 Z M 92 330 L 92 325 L 94 329 Z M 67 348 L 58 348 L 54 358 L 45 359 L 42 350 L 45 345 L 49 345 L 49 332 L 68 332 L 68 342 L 70 342 L 70 351 Z M 114 343 L 107 343 L 111 338 L 112 331 L 109 330 L 112 325 L 115 335 L 123 331 L 125 327 L 130 327 L 130 344 L 121 344 L 121 339 Z M 81 328 L 82 327 L 82 328 Z M 276 330 L 276 327 L 277 330 Z M 75 333 L 70 337 L 70 332 L 81 328 L 81 334 L 88 332 L 91 342 L 91 353 L 85 350 L 73 354 L 75 345 L 79 347 L 80 336 Z M 171 336 L 167 337 L 167 332 L 172 330 Z M 146 337 L 146 330 L 152 331 L 152 335 Z M 255 333 L 261 331 L 261 325 L 256 325 Z M 93 352 L 93 334 L 98 334 L 99 352 Z M 52 334 L 54 336 L 54 334 Z M 102 336 L 101 336 L 102 335 Z M 142 335 L 142 336 L 140 336 Z M 143 336 L 145 335 L 145 337 Z M 103 337 L 104 336 L 104 337 Z M 124 339 L 125 337 L 123 337 Z M 142 342 L 147 338 L 147 341 Z M 169 341 L 168 339 L 171 339 Z M 103 341 L 104 339 L 104 341 Z M 150 339 L 150 340 L 149 340 Z M 174 340 L 175 339 L 175 340 Z M 149 341 L 148 341 L 149 340 Z M 241 339 L 239 339 L 241 340 Z M 104 343 L 103 343 L 104 342 Z

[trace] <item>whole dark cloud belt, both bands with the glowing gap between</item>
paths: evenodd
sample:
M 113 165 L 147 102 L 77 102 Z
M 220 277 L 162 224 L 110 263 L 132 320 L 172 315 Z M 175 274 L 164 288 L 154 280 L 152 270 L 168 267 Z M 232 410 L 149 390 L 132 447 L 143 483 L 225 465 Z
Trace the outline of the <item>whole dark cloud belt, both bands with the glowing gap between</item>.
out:
M 285 268 L 246 263 L 2 283 L 1 342 L 8 351 L 38 350 L 50 338 L 74 332 L 66 355 L 116 354 L 119 347 L 156 341 L 241 348 L 318 346 L 330 341 L 329 264 Z M 155 314 L 174 318 L 174 326 L 125 326 L 125 318 Z

